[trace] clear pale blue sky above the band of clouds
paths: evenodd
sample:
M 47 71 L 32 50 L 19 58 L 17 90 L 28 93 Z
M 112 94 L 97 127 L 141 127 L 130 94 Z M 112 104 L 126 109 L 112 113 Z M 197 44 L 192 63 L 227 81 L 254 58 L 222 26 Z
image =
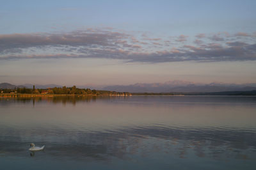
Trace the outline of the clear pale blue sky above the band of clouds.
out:
M 253 32 L 255 6 L 255 1 L 3 1 L 1 33 L 95 26 L 168 35 Z

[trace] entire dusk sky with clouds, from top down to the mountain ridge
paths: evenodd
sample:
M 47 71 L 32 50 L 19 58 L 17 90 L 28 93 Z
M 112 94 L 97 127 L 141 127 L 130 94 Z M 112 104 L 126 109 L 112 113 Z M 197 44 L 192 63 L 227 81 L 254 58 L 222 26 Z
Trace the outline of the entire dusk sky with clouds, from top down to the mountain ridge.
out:
M 0 82 L 256 82 L 256 1 L 1 1 Z

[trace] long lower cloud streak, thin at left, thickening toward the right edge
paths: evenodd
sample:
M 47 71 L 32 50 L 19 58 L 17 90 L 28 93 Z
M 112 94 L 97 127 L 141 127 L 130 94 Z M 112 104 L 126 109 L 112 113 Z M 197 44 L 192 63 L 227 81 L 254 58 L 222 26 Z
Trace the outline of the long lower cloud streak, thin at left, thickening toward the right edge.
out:
M 196 47 L 186 46 L 186 49 L 172 49 L 170 52 L 130 52 L 127 50 L 108 50 L 95 49 L 91 50 L 90 55 L 33 55 L 33 56 L 8 56 L 6 59 L 20 58 L 109 58 L 122 59 L 127 62 L 146 62 L 146 63 L 162 63 L 172 61 L 246 61 L 256 60 L 256 44 L 246 45 L 244 47 L 220 47 L 208 49 L 200 49 Z

